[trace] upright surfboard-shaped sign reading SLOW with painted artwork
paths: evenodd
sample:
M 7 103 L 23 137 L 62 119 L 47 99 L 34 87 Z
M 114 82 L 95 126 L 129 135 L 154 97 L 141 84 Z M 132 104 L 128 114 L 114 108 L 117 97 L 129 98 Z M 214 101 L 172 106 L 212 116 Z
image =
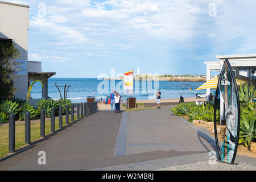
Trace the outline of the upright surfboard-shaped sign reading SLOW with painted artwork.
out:
M 221 98 L 221 99 L 219 99 Z M 222 102 L 222 103 L 220 103 Z M 221 124 L 226 125 L 223 143 L 219 145 L 217 134 L 217 105 L 220 104 Z M 224 61 L 220 72 L 216 96 L 214 99 L 214 134 L 218 157 L 221 162 L 234 164 L 237 154 L 238 140 L 240 133 L 240 101 L 237 89 L 237 82 L 230 66 L 229 60 Z M 221 134 L 222 135 L 222 134 Z M 220 142 L 221 143 L 221 142 Z

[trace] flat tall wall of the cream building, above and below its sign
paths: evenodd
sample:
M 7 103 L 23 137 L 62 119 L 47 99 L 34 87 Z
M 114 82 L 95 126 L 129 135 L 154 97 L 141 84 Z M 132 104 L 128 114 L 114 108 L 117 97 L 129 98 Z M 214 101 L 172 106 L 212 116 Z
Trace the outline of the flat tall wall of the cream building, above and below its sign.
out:
M 13 39 L 20 56 L 16 60 L 28 60 L 29 7 L 0 1 L 0 38 Z M 15 77 L 16 98 L 27 98 L 27 77 Z

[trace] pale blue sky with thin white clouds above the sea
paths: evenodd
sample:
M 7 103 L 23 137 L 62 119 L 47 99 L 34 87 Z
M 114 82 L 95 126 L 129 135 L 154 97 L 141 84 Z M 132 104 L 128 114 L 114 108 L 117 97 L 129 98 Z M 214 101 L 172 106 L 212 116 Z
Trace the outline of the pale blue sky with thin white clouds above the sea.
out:
M 7 1 L 7 0 L 5 0 Z M 7 1 L 30 6 L 28 60 L 55 77 L 130 70 L 206 75 L 216 55 L 256 53 L 256 1 Z

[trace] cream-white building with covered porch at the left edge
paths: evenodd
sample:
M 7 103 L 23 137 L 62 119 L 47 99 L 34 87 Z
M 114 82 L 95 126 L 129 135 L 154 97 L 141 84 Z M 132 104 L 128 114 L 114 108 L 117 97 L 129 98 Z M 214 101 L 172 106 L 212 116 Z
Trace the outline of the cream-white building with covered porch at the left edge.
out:
M 42 98 L 47 98 L 47 80 L 56 73 L 42 72 L 40 62 L 28 61 L 28 29 L 29 6 L 0 1 L 0 41 L 12 41 L 20 52 L 16 61 L 23 63 L 14 77 L 14 96 L 26 100 L 30 81 L 36 79 L 43 81 Z

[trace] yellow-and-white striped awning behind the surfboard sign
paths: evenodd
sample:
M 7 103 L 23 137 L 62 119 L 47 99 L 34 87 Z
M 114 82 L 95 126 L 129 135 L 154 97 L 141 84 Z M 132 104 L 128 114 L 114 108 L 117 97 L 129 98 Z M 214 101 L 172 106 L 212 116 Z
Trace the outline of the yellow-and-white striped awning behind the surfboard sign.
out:
M 203 85 L 199 86 L 196 90 L 202 90 L 202 89 L 216 89 L 218 84 L 218 77 L 220 75 L 214 76 L 209 81 L 205 82 Z M 243 85 L 246 82 L 250 81 L 250 78 L 244 77 L 244 76 L 236 76 L 237 85 Z

